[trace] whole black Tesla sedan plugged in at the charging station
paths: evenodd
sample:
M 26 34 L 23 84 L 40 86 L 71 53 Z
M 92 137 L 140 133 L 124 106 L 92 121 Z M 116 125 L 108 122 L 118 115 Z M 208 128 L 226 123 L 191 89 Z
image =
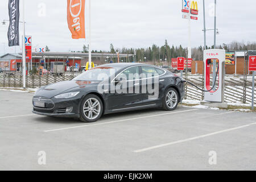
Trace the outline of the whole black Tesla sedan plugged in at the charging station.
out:
M 102 114 L 161 107 L 175 110 L 184 98 L 181 77 L 147 64 L 105 64 L 70 81 L 38 89 L 33 113 L 95 122 Z

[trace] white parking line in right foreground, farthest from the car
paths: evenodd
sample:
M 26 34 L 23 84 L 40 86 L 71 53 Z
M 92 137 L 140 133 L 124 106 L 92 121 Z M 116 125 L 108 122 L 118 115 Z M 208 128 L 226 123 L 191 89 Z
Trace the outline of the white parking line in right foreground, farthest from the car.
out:
M 171 145 L 177 144 L 177 143 L 188 142 L 188 141 L 191 141 L 191 140 L 196 140 L 196 139 L 199 139 L 199 138 L 205 138 L 205 137 L 209 137 L 209 136 L 212 136 L 212 135 L 217 135 L 217 134 L 220 134 L 220 133 L 225 133 L 225 132 L 228 132 L 228 131 L 233 131 L 233 130 L 242 129 L 242 128 L 244 128 L 244 127 L 248 127 L 248 126 L 251 126 L 251 125 L 256 125 L 256 122 L 255 122 L 255 123 L 250 123 L 250 124 L 248 124 L 248 125 L 233 127 L 233 128 L 231 128 L 231 129 L 216 131 L 216 132 L 214 132 L 214 133 L 209 133 L 209 134 L 205 134 L 205 135 L 200 135 L 200 136 L 198 136 L 198 137 L 193 137 L 193 138 L 188 138 L 188 139 L 183 139 L 183 140 L 177 140 L 176 142 L 164 143 L 164 144 L 159 144 L 159 145 L 157 145 L 157 146 L 142 148 L 142 149 L 140 149 L 140 150 L 135 150 L 134 152 L 139 153 L 139 152 L 144 152 L 144 151 L 148 151 L 148 150 L 153 150 L 153 149 L 155 149 L 155 148 L 171 146 Z

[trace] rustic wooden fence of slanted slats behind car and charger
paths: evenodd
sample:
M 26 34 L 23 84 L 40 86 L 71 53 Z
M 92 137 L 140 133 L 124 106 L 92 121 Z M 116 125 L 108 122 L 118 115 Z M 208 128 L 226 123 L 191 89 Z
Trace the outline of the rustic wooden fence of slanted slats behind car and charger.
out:
M 26 87 L 27 88 L 40 88 L 53 84 L 55 82 L 71 80 L 74 76 L 52 76 L 52 75 L 28 75 L 26 76 Z M 188 77 L 188 81 L 204 89 L 203 77 Z M 251 104 L 251 81 L 246 81 L 243 85 L 242 78 L 225 78 L 225 101 L 226 102 L 240 102 Z M 218 82 L 216 83 L 218 85 Z M 23 77 L 22 75 L 0 75 L 0 86 L 2 87 L 17 87 L 22 88 Z M 255 90 L 255 89 L 254 89 Z M 245 92 L 244 92 L 245 91 Z M 255 90 L 256 93 L 256 90 Z M 204 92 L 196 89 L 195 87 L 187 84 L 185 89 L 185 99 L 188 100 L 204 100 Z M 255 101 L 256 103 L 256 97 Z

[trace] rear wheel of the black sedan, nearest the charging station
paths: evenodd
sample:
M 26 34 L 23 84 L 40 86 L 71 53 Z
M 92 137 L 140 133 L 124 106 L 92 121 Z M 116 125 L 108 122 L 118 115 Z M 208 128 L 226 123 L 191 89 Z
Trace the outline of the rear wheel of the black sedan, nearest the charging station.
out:
M 179 104 L 179 94 L 174 88 L 169 88 L 163 97 L 163 109 L 175 110 Z

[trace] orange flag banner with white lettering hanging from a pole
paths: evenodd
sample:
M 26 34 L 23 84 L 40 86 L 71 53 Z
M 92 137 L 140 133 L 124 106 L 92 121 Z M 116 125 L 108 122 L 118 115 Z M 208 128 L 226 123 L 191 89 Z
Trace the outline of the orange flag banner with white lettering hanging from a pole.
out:
M 68 28 L 71 31 L 72 39 L 85 39 L 84 9 L 85 0 L 68 1 Z

